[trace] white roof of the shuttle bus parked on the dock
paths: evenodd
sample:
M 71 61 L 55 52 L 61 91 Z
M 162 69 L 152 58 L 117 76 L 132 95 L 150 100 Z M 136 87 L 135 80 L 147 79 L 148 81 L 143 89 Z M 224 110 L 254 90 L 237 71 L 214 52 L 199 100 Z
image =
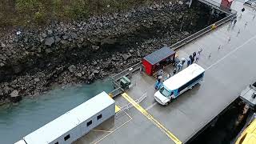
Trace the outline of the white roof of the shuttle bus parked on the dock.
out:
M 205 70 L 201 66 L 194 63 L 178 74 L 168 78 L 165 82 L 163 82 L 163 85 L 169 90 L 176 90 L 186 84 L 186 82 L 189 82 L 199 74 L 202 74 L 204 71 Z

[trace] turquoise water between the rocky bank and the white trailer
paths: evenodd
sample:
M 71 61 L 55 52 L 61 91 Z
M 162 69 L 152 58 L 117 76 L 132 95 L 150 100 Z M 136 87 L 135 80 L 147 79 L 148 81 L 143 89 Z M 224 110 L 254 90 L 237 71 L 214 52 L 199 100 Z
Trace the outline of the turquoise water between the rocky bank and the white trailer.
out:
M 55 89 L 37 98 L 24 98 L 17 105 L 0 107 L 0 143 L 17 142 L 26 134 L 73 109 L 94 95 L 113 90 L 110 80 L 91 85 Z

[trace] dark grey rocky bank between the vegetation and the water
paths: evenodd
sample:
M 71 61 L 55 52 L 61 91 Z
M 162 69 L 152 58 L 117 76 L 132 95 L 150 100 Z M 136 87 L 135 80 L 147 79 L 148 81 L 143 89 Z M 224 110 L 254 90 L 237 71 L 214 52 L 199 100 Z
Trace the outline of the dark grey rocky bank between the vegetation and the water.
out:
M 189 9 L 182 1 L 161 2 L 84 22 L 51 22 L 1 34 L 0 104 L 118 73 L 223 18 L 209 21 L 209 11 L 198 4 Z

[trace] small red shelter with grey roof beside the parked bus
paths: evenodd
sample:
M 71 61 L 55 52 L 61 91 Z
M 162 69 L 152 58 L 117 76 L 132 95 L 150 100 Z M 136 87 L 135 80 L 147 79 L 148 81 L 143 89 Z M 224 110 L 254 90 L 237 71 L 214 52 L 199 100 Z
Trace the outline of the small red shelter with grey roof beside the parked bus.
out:
M 144 66 L 146 74 L 152 75 L 161 69 L 166 63 L 174 62 L 174 58 L 175 51 L 164 46 L 160 50 L 156 50 L 154 53 L 144 57 L 142 60 L 142 66 Z

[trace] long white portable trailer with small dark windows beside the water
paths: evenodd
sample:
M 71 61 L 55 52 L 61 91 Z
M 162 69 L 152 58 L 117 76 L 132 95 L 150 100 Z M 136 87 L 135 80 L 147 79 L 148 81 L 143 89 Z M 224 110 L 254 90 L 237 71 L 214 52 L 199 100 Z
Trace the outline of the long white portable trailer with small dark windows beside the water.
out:
M 106 121 L 106 119 L 113 117 L 115 114 L 114 108 L 114 100 L 103 91 L 26 135 L 22 140 L 26 144 L 70 144 Z

